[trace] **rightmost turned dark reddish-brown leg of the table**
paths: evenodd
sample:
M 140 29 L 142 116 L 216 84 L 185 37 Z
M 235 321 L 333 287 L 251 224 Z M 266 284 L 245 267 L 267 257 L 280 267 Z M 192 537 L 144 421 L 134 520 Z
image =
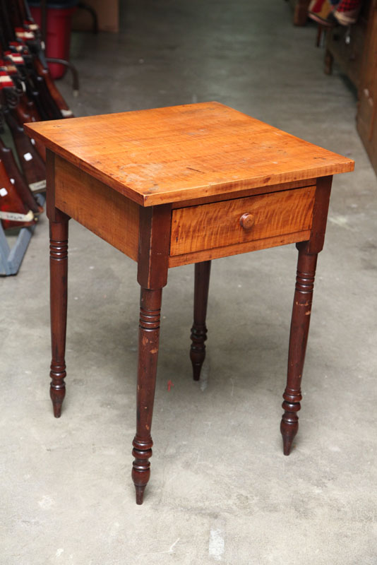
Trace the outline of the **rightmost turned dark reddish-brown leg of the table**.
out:
M 280 424 L 284 454 L 289 455 L 292 441 L 299 429 L 301 405 L 301 377 L 304 369 L 306 343 L 308 341 L 311 304 L 313 299 L 314 276 L 318 254 L 309 255 L 304 244 L 297 244 L 299 260 L 297 263 L 296 290 L 292 310 L 291 331 L 289 335 L 287 387 L 283 394 L 282 408 L 285 412 Z

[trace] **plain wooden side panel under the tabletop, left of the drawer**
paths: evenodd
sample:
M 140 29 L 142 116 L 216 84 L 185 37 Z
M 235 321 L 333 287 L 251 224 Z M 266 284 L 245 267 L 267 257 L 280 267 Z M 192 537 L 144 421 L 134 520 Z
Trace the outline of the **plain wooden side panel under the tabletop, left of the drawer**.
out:
M 137 261 L 140 207 L 58 156 L 55 174 L 56 208 Z

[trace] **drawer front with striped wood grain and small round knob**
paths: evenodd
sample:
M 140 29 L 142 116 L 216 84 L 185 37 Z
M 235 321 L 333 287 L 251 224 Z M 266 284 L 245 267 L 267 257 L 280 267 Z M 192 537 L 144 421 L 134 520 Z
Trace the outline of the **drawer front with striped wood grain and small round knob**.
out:
M 170 255 L 310 230 L 315 193 L 306 186 L 173 210 Z

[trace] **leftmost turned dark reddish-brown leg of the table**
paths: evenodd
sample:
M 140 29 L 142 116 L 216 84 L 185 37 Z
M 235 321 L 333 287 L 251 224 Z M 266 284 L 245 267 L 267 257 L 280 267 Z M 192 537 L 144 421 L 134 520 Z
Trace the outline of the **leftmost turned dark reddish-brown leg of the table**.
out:
M 50 396 L 54 416 L 61 415 L 61 405 L 66 396 L 66 319 L 68 275 L 68 216 L 56 211 L 50 221 L 50 311 L 51 311 L 51 386 Z

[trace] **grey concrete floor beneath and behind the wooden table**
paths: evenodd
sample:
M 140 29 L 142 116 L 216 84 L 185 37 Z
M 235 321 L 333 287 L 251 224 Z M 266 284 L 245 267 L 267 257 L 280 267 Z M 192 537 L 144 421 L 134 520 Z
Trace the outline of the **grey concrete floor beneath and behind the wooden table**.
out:
M 1 565 L 376 565 L 376 177 L 337 69 L 282 0 L 129 0 L 119 35 L 76 35 L 76 115 L 219 100 L 356 160 L 335 178 L 300 429 L 280 408 L 297 252 L 213 264 L 204 379 L 188 360 L 193 267 L 164 290 L 152 476 L 134 502 L 138 285 L 71 222 L 67 396 L 48 393 L 47 220 L 1 280 Z M 106 132 L 104 132 L 104 136 Z M 168 391 L 167 382 L 174 387 Z

